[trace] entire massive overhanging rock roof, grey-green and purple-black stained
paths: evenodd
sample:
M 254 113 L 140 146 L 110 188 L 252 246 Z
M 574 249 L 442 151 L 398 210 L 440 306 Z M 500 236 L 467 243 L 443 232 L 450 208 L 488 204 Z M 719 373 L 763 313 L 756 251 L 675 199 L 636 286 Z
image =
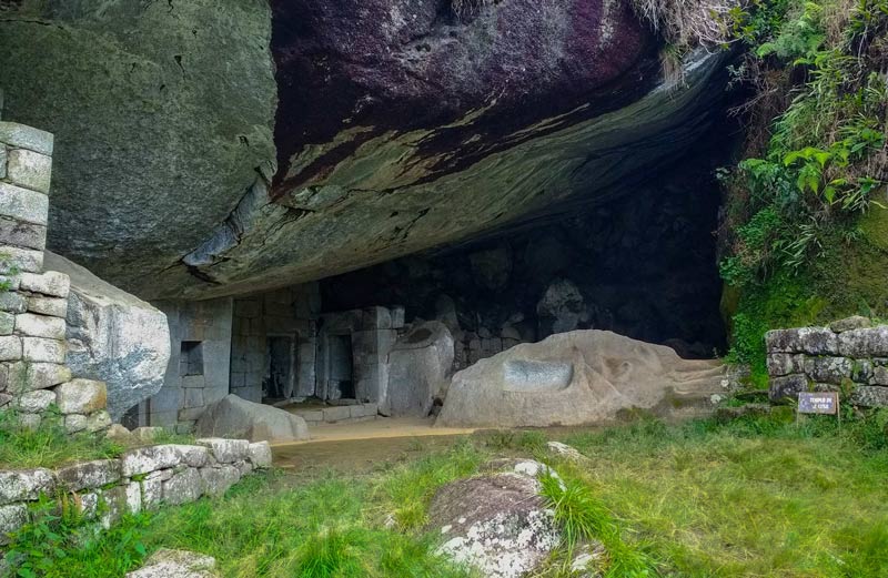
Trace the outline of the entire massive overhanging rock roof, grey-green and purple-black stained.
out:
M 715 52 L 664 81 L 613 0 L 23 0 L 0 42 L 7 114 L 59 143 L 50 247 L 143 298 L 292 285 L 630 193 L 724 92 Z

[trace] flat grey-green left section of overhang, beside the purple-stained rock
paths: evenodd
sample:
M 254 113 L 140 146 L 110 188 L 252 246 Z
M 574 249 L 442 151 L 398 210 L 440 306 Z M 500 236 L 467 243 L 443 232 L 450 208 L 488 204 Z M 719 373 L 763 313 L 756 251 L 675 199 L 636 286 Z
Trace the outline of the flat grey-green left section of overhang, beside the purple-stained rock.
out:
M 172 290 L 154 275 L 274 173 L 268 2 L 0 4 L 3 118 L 56 134 L 50 249 Z

